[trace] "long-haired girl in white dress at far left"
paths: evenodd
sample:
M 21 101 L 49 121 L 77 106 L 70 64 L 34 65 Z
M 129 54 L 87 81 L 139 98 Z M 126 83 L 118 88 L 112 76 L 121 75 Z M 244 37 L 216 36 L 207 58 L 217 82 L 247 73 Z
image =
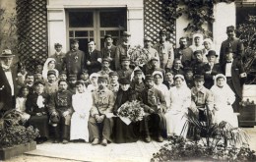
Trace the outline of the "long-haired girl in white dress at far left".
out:
M 22 118 L 21 121 L 24 124 L 31 118 L 31 115 L 26 113 L 26 105 L 25 105 L 29 92 L 30 92 L 29 86 L 24 85 L 20 88 L 19 94 L 16 98 L 16 111 L 21 113 L 21 118 Z

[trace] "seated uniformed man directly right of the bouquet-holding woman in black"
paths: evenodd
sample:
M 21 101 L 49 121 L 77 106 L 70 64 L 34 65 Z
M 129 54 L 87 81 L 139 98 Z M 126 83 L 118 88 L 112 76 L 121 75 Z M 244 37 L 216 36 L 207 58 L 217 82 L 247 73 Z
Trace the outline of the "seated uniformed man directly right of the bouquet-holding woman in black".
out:
M 154 87 L 154 79 L 152 76 L 146 76 L 146 87 L 141 94 L 139 99 L 144 103 L 142 106 L 146 111 L 141 128 L 145 134 L 145 141 L 151 141 L 150 134 L 152 133 L 157 136 L 159 142 L 162 142 L 163 138 L 161 133 L 165 129 L 163 112 L 166 109 L 166 102 L 161 91 Z

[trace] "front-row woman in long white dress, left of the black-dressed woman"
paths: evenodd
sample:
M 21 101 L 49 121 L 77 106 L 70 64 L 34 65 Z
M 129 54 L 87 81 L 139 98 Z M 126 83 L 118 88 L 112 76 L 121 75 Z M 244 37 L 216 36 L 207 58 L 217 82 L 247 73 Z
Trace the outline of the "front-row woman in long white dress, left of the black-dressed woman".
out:
M 76 82 L 76 94 L 72 96 L 74 113 L 71 118 L 70 140 L 89 141 L 88 119 L 93 106 L 92 93 L 86 90 L 84 81 Z

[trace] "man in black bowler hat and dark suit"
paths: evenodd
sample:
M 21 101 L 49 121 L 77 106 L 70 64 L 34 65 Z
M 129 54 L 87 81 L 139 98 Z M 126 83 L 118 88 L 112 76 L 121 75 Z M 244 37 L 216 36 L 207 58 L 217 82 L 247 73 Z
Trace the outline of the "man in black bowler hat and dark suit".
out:
M 203 66 L 205 70 L 205 87 L 210 89 L 214 85 L 214 76 L 221 74 L 222 69 L 220 64 L 216 64 L 216 59 L 218 55 L 215 50 L 210 50 L 206 55 L 208 63 Z

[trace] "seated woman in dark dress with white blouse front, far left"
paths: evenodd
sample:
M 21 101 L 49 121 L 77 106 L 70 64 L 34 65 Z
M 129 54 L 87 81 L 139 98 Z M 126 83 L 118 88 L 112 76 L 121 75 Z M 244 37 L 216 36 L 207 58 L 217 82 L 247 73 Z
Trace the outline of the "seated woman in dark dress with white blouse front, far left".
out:
M 28 96 L 26 101 L 26 112 L 31 115 L 30 120 L 28 121 L 34 128 L 39 130 L 40 137 L 37 137 L 35 140 L 38 144 L 47 140 L 49 135 L 48 129 L 48 95 L 43 92 L 43 81 L 34 81 L 34 93 Z

